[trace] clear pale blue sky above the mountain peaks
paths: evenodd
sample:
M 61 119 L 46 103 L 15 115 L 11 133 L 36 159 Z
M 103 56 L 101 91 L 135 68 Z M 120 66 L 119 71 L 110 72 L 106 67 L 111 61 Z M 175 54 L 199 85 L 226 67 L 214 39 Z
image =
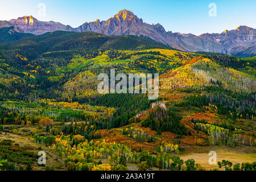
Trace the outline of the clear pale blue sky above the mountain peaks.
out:
M 210 3 L 214 6 L 209 7 Z M 32 15 L 75 28 L 84 22 L 107 20 L 126 9 L 143 22 L 162 24 L 166 31 L 200 35 L 240 25 L 256 28 L 255 7 L 255 0 L 0 0 L 0 20 Z

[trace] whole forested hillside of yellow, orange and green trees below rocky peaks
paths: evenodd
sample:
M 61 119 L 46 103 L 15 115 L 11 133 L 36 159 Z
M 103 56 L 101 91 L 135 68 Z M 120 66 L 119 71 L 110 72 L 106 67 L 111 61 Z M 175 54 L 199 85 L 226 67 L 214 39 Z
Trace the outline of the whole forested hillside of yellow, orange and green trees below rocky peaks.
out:
M 246 163 L 254 161 L 251 155 L 233 167 L 182 159 L 200 147 L 255 154 L 255 61 L 93 32 L 1 43 L 0 169 L 255 169 Z M 97 76 L 112 68 L 116 74 L 159 73 L 159 98 L 99 94 Z M 34 148 L 18 152 L 22 141 Z M 63 161 L 60 167 L 38 166 L 39 147 Z

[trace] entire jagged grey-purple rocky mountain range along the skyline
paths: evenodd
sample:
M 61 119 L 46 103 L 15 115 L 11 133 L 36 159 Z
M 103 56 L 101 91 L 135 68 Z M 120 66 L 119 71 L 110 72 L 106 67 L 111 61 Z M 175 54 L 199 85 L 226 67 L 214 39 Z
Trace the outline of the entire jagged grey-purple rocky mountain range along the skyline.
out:
M 41 35 L 53 31 L 92 31 L 104 35 L 123 36 L 134 35 L 165 44 L 181 51 L 188 52 L 217 52 L 236 56 L 256 55 L 256 29 L 239 26 L 236 30 L 225 30 L 221 34 L 181 34 L 166 31 L 162 25 L 144 23 L 132 11 L 122 10 L 108 20 L 85 22 L 77 28 L 57 23 L 42 22 L 33 16 L 23 16 L 9 21 L 0 21 L 0 28 L 13 27 L 21 33 Z

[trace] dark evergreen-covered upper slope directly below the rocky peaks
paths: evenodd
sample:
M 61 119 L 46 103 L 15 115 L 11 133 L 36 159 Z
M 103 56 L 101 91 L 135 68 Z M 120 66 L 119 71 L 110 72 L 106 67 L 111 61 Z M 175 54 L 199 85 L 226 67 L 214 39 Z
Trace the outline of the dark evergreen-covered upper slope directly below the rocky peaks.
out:
M 0 44 L 0 49 L 19 49 L 28 58 L 35 58 L 49 51 L 96 51 L 98 49 L 150 49 L 168 46 L 136 36 L 106 36 L 96 32 L 55 31 L 25 38 L 12 43 Z

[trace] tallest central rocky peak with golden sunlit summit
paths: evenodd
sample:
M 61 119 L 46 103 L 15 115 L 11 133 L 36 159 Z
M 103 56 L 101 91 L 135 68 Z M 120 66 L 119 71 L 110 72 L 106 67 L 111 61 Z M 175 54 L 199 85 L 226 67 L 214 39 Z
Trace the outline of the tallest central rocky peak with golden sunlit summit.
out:
M 142 19 L 139 19 L 133 12 L 128 10 L 119 11 L 113 18 L 109 18 L 106 21 L 86 22 L 76 28 L 76 31 L 93 31 L 105 35 L 135 35 L 150 38 L 170 46 L 167 43 L 168 34 L 163 26 L 143 23 Z

